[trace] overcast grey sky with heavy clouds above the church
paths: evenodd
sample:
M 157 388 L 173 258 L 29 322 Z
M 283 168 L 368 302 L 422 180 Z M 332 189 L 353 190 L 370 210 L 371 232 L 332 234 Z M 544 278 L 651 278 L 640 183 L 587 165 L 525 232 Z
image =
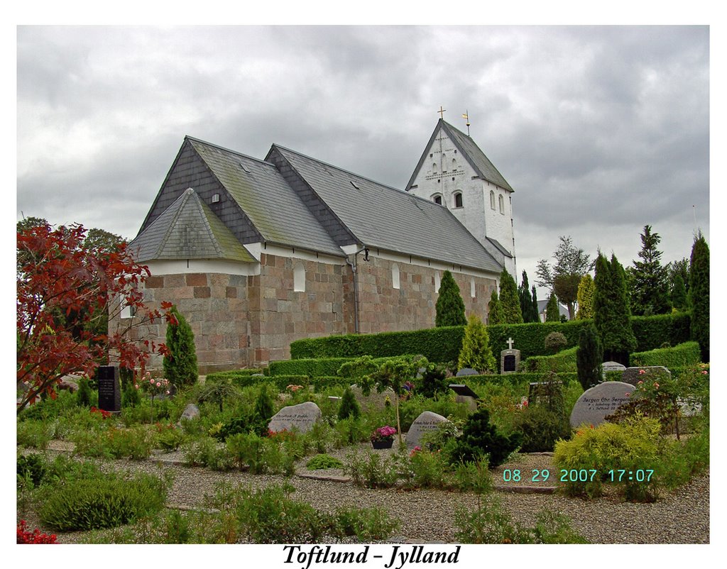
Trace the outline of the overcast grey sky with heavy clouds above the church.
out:
M 628 266 L 648 224 L 670 262 L 710 237 L 709 46 L 707 26 L 21 26 L 17 219 L 133 238 L 185 134 L 403 189 L 443 105 L 515 189 L 531 283 L 559 235 Z

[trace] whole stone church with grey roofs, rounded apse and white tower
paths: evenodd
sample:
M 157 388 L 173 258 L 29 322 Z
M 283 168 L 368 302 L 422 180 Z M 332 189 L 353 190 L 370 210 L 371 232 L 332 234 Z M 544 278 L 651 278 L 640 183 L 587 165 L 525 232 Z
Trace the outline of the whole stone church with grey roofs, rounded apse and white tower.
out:
M 301 338 L 433 327 L 445 270 L 486 321 L 502 268 L 515 275 L 512 193 L 442 119 L 406 190 L 275 144 L 260 160 L 185 137 L 130 250 L 146 304 L 190 323 L 200 374 L 264 366 Z M 164 324 L 140 333 L 164 341 Z

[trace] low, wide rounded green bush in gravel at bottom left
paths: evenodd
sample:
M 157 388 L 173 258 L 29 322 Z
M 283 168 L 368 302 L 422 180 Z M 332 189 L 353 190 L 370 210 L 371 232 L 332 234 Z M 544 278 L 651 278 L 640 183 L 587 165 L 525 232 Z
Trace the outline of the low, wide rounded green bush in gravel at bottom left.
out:
M 113 528 L 158 512 L 166 492 L 164 480 L 146 474 L 129 480 L 113 475 L 74 480 L 48 491 L 38 514 L 45 526 L 58 531 Z

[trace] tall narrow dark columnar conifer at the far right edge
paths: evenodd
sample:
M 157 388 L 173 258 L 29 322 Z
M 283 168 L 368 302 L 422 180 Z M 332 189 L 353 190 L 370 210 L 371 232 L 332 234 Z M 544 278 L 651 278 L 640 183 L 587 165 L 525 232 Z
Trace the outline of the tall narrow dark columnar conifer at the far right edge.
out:
M 702 361 L 710 361 L 710 248 L 700 231 L 691 248 L 689 270 L 691 337 L 699 342 Z

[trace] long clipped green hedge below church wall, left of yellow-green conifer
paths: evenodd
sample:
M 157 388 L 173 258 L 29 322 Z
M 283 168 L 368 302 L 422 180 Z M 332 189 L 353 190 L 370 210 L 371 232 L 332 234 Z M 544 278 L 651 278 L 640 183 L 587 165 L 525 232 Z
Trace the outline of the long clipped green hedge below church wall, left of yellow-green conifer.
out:
M 463 326 L 443 326 L 380 334 L 346 334 L 296 340 L 290 344 L 290 357 L 303 358 L 391 358 L 398 355 L 424 355 L 430 362 L 457 361 L 462 349 Z

